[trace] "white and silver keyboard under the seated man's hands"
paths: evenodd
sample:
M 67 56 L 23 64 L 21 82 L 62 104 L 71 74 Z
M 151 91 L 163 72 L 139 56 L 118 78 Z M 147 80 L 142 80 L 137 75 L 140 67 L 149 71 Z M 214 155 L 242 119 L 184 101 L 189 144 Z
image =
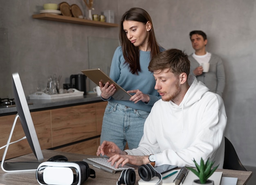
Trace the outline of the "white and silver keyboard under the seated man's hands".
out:
M 87 158 L 87 159 L 83 159 L 83 161 L 94 167 L 97 167 L 101 170 L 104 170 L 112 174 L 115 174 L 117 171 L 135 169 L 134 167 L 131 167 L 129 165 L 124 165 L 123 167 L 119 165 L 118 168 L 115 168 L 115 165 L 111 166 L 111 162 L 108 162 L 108 158 L 106 157 Z

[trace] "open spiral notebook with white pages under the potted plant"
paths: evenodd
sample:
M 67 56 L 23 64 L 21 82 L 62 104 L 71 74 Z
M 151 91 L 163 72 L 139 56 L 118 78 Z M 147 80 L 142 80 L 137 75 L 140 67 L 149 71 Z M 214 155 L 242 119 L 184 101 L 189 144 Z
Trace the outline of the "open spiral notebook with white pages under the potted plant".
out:
M 166 176 L 172 172 L 178 171 L 178 173 L 174 174 L 173 176 L 170 176 L 169 178 L 166 178 L 163 180 L 162 185 L 179 185 L 179 184 L 175 184 L 173 183 L 174 179 L 180 174 L 180 170 L 172 170 L 170 172 L 167 172 L 165 174 L 162 174 L 162 176 Z M 221 181 L 221 177 L 222 177 L 222 172 L 214 172 L 209 179 L 214 181 L 214 185 L 220 185 L 220 181 Z M 198 179 L 198 176 L 196 176 L 193 172 L 189 171 L 186 178 L 184 179 L 183 184 L 180 183 L 180 185 L 191 185 L 192 182 Z M 146 182 L 143 181 L 142 179 L 140 179 L 138 181 L 139 185 L 155 185 L 157 182 L 159 181 L 158 177 L 154 177 L 152 178 L 150 181 Z

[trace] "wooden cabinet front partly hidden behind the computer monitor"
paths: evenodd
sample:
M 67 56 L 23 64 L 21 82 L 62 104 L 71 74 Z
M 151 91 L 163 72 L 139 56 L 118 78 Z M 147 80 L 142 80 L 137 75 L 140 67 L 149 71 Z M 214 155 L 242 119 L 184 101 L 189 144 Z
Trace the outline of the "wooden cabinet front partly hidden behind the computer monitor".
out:
M 0 117 L 0 146 L 6 145 L 9 138 L 11 128 L 13 126 L 13 121 L 16 115 L 9 115 Z M 44 110 L 39 112 L 31 112 L 31 117 L 34 123 L 38 141 L 40 143 L 41 149 L 47 149 L 52 147 L 52 134 L 51 134 L 51 117 L 50 110 Z M 17 141 L 25 136 L 22 129 L 20 120 L 17 119 L 17 123 L 13 130 L 11 137 L 11 142 Z M 23 139 L 17 143 L 9 145 L 7 155 L 5 159 L 10 159 L 13 157 L 21 156 L 24 154 L 31 153 L 32 150 L 27 142 L 27 139 Z M 0 150 L 0 161 L 2 160 L 2 155 L 4 149 Z

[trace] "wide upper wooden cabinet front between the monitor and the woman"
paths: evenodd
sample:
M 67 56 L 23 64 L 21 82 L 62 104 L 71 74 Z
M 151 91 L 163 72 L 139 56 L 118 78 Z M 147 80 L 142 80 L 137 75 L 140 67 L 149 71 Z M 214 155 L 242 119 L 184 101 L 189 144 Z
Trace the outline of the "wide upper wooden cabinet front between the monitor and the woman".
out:
M 53 147 L 96 135 L 95 104 L 51 110 Z

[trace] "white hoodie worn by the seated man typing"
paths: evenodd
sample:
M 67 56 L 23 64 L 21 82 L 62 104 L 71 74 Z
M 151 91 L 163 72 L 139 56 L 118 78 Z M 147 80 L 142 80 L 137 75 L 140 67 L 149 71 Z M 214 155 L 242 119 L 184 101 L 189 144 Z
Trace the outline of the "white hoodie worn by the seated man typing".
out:
M 125 150 L 129 155 L 155 154 L 162 164 L 195 166 L 210 158 L 223 167 L 227 123 L 222 98 L 189 75 L 189 90 L 179 106 L 173 101 L 157 101 L 144 124 L 139 147 Z M 223 142 L 222 142 L 223 141 Z

